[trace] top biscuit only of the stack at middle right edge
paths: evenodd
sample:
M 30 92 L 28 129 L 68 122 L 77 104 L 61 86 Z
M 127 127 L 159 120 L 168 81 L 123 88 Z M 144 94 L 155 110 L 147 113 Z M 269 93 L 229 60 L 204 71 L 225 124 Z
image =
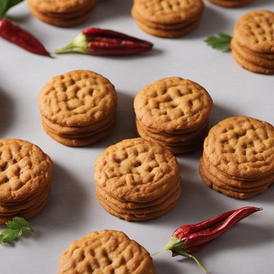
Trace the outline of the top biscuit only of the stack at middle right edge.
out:
M 231 177 L 259 179 L 274 173 L 274 128 L 269 123 L 234 116 L 210 129 L 204 153 Z

